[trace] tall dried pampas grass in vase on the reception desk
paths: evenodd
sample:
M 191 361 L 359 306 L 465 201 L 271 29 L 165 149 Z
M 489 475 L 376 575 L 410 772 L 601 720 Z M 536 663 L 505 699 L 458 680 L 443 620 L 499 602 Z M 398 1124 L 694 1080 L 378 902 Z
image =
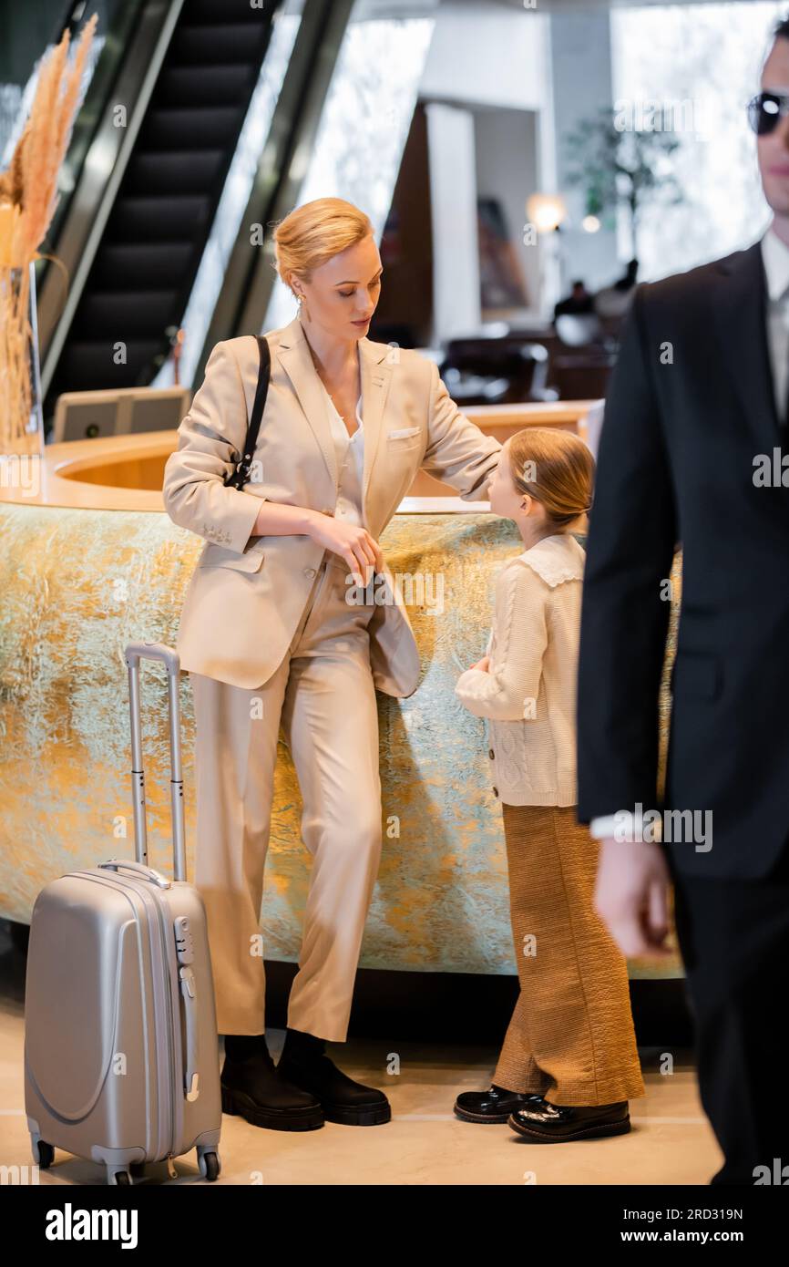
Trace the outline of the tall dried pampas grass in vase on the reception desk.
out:
M 30 115 L 0 172 L 0 454 L 35 452 L 29 321 L 32 262 L 58 204 L 60 171 L 80 104 L 82 73 L 99 18 L 85 24 L 68 58 L 68 32 L 43 60 Z

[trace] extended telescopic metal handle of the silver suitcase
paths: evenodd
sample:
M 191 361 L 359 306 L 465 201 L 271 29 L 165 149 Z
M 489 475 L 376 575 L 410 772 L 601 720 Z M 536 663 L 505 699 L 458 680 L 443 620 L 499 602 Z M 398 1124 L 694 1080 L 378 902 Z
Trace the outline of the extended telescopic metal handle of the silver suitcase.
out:
M 132 801 L 134 805 L 134 856 L 148 865 L 148 829 L 146 822 L 146 775 L 142 758 L 139 721 L 139 661 L 161 660 L 167 669 L 167 702 L 170 718 L 170 807 L 172 816 L 172 872 L 175 879 L 186 879 L 184 831 L 184 777 L 181 772 L 181 706 L 179 675 L 181 661 L 177 651 L 163 642 L 129 642 L 124 653 L 129 670 L 129 712 L 132 720 Z

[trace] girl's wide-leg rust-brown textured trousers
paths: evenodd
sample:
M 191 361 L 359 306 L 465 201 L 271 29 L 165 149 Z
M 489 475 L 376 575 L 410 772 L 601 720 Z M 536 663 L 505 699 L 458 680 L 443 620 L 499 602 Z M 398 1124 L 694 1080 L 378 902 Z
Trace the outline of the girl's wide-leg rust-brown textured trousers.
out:
M 575 806 L 502 805 L 521 993 L 493 1081 L 556 1105 L 646 1095 L 627 963 L 594 908 L 600 845 Z

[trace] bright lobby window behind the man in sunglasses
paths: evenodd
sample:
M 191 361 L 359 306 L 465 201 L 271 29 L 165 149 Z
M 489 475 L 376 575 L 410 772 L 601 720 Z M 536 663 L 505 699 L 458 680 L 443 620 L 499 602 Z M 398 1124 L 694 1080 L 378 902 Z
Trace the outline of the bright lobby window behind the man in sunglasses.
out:
M 770 30 L 786 4 L 650 5 L 610 14 L 615 106 L 637 127 L 670 106 L 680 146 L 672 170 L 684 201 L 645 209 L 637 255 L 643 281 L 750 246 L 769 223 L 746 103 L 759 91 Z M 619 226 L 621 258 L 633 253 Z

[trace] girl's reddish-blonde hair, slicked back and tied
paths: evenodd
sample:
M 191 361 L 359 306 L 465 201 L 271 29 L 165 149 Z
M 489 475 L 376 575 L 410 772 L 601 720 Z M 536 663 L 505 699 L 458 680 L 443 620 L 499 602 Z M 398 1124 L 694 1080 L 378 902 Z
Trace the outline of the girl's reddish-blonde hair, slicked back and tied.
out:
M 595 462 L 579 436 L 527 427 L 515 432 L 507 451 L 513 484 L 545 507 L 556 528 L 567 527 L 591 509 Z

